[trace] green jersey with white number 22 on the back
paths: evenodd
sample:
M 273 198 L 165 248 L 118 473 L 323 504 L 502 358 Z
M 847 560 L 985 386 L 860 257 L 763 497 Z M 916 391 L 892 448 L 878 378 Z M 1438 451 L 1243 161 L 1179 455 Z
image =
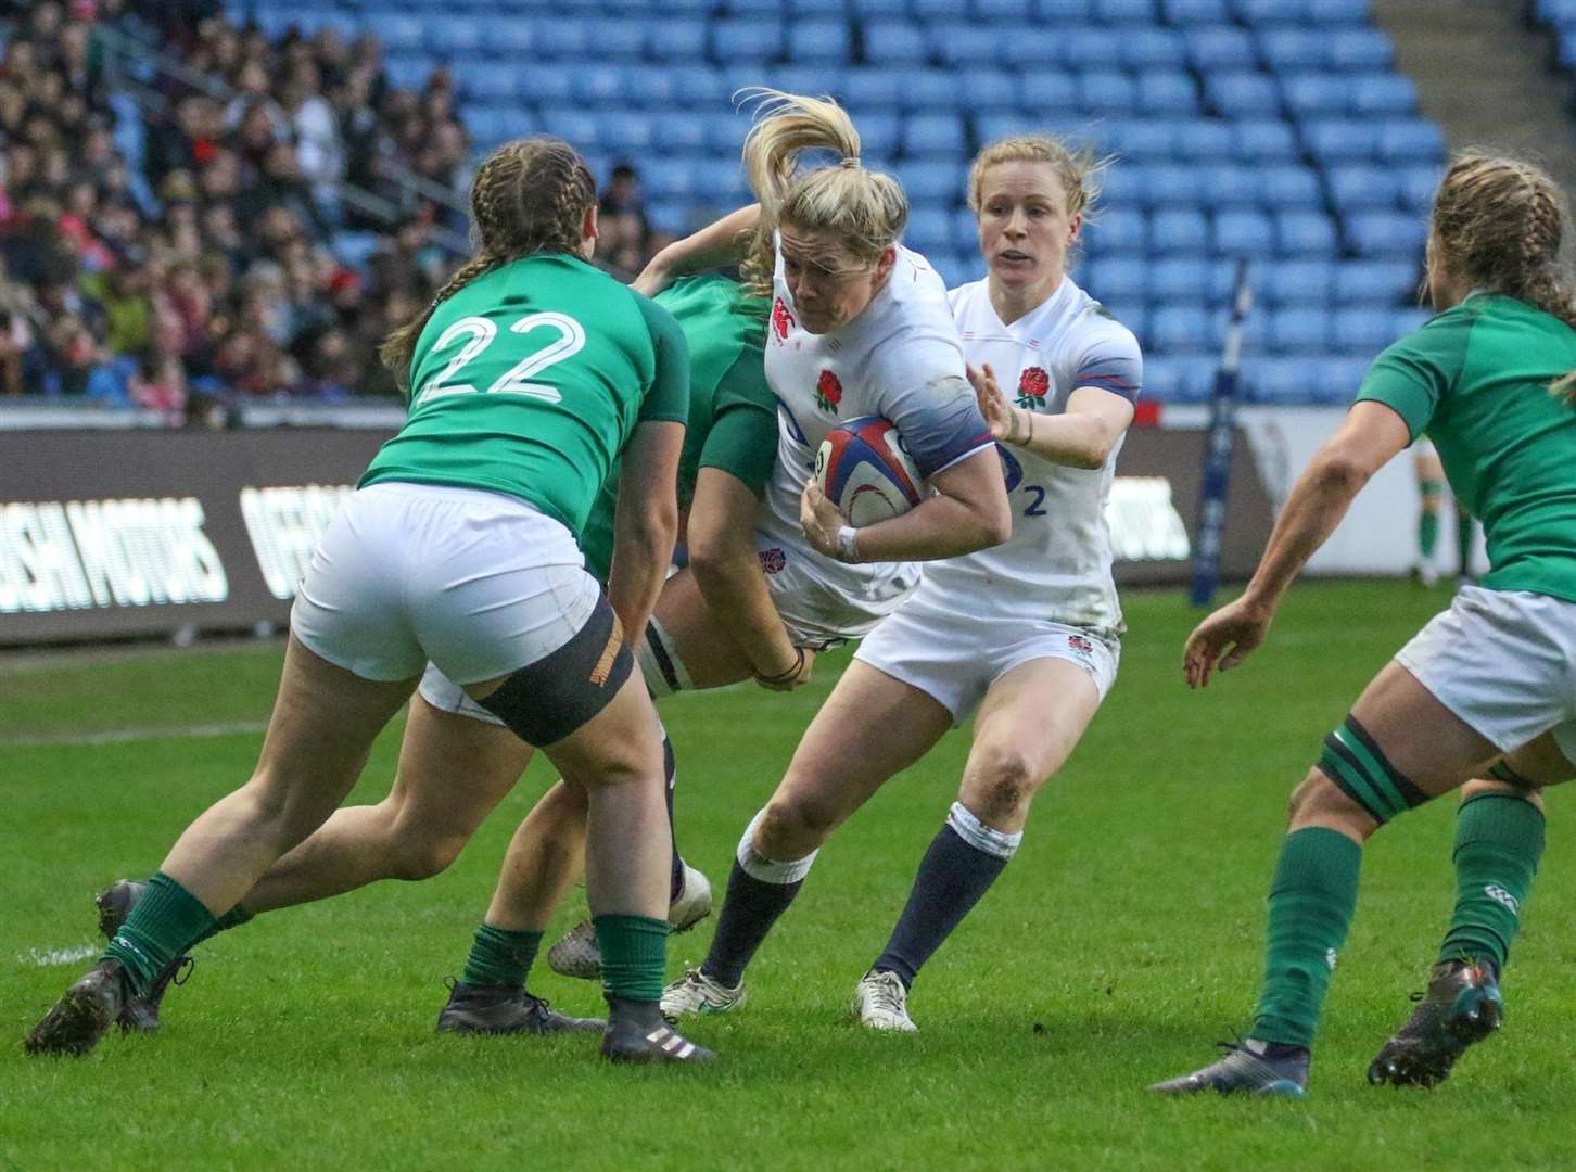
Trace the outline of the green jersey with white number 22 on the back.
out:
M 487 273 L 416 342 L 410 413 L 372 458 L 380 480 L 519 496 L 577 536 L 637 422 L 689 416 L 673 315 L 564 252 Z

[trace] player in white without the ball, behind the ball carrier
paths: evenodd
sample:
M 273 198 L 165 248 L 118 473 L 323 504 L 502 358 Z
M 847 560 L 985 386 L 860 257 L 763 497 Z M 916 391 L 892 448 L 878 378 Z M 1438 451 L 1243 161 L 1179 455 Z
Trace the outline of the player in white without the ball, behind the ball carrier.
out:
M 865 638 L 739 843 L 711 953 L 663 994 L 670 1018 L 741 1005 L 744 967 L 832 830 L 977 710 L 958 800 L 854 996 L 862 1024 L 913 1030 L 920 966 L 1018 849 L 1035 791 L 1110 690 L 1122 614 L 1105 503 L 1141 358 L 1067 277 L 1092 195 L 1089 158 L 1051 139 L 1007 139 L 976 159 L 969 205 L 990 276 L 950 299 L 1005 446 L 1012 537 L 927 564 L 919 591 Z

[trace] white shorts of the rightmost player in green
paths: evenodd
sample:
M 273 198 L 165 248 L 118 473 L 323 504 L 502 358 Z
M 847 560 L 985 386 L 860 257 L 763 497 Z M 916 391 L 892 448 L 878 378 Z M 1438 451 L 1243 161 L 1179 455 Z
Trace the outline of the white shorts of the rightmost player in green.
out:
M 1395 662 L 1500 751 L 1552 729 L 1576 762 L 1576 603 L 1463 586 Z

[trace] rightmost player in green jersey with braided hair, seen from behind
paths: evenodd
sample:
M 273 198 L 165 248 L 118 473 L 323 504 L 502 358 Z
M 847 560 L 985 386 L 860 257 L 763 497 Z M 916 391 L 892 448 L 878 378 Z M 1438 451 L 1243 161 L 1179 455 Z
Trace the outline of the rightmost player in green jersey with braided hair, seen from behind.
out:
M 1324 740 L 1291 797 L 1247 1041 L 1155 1085 L 1300 1096 L 1357 903 L 1368 838 L 1466 786 L 1456 904 L 1411 1019 L 1373 1082 L 1437 1082 L 1500 1021 L 1499 975 L 1543 851 L 1538 789 L 1576 773 L 1576 296 L 1560 268 L 1563 195 L 1538 167 L 1458 154 L 1434 197 L 1434 317 L 1385 350 L 1346 425 L 1302 474 L 1247 591 L 1198 625 L 1190 687 L 1269 633 L 1297 572 L 1362 485 L 1418 435 L 1483 521 L 1489 572 L 1407 643 Z M 1478 778 L 1478 780 L 1474 780 Z

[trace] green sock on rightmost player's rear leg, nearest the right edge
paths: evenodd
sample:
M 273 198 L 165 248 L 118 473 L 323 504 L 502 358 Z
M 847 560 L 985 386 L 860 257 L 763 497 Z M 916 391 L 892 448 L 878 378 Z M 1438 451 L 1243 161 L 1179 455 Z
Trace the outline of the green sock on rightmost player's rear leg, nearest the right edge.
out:
M 1440 961 L 1505 967 L 1543 855 L 1543 811 L 1515 794 L 1478 794 L 1456 811 L 1456 909 Z

